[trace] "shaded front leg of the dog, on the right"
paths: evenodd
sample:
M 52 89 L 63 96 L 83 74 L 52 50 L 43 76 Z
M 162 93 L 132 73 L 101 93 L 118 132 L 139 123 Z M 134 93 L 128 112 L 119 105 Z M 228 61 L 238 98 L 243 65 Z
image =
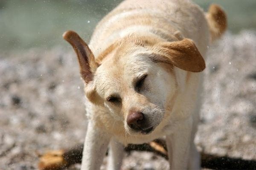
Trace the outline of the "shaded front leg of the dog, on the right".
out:
M 187 169 L 191 141 L 192 122 L 186 120 L 169 136 L 166 136 L 170 169 Z

